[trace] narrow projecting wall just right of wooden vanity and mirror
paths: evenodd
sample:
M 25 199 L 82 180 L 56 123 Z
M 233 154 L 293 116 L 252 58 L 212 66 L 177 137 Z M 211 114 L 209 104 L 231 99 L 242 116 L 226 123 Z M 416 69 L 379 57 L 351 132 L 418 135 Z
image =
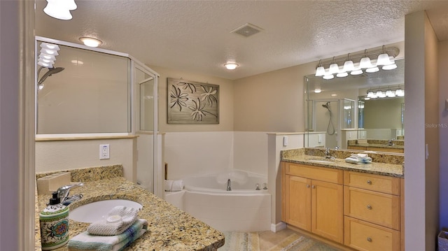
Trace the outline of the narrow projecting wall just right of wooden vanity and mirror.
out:
M 405 248 L 435 250 L 439 220 L 437 37 L 424 11 L 405 17 Z M 426 157 L 426 146 L 428 157 Z

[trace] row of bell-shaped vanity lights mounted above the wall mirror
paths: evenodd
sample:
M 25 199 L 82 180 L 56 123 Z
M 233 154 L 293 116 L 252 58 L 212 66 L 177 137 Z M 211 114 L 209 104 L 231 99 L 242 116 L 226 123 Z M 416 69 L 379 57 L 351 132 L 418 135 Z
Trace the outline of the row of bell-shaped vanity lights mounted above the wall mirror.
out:
M 325 62 L 320 59 L 316 66 L 315 76 L 330 79 L 331 76 L 329 74 L 337 74 L 336 76 L 338 78 L 344 78 L 349 75 L 356 76 L 363 74 L 363 70 L 367 73 L 375 73 L 380 69 L 395 69 L 397 66 L 394 59 L 399 53 L 400 50 L 398 48 L 386 48 L 385 45 L 382 45 L 381 49 L 373 48 L 369 49 L 368 52 L 366 49 L 362 52 L 349 53 L 347 56 L 325 59 Z M 358 63 L 355 64 L 354 62 Z M 342 67 L 339 67 L 339 65 Z

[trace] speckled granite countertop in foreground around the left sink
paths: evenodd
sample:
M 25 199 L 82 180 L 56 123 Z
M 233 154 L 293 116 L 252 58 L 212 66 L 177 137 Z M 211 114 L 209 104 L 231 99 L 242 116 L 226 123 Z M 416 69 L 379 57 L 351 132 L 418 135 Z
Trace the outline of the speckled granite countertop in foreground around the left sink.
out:
M 130 199 L 143 205 L 139 218 L 148 221 L 148 231 L 126 250 L 217 250 L 224 245 L 224 234 L 188 215 L 167 201 L 135 185 L 123 177 L 84 182 L 71 194 L 83 194 L 83 199 L 73 202 L 69 209 L 104 199 Z M 38 208 L 45 208 L 51 195 L 37 196 Z M 36 208 L 36 210 L 38 210 Z M 69 220 L 70 238 L 85 231 L 89 223 Z M 36 231 L 38 220 L 36 221 Z M 40 237 L 40 236 L 39 236 Z M 38 238 L 40 241 L 40 238 Z M 40 246 L 36 244 L 36 248 Z M 68 250 L 66 245 L 57 251 Z

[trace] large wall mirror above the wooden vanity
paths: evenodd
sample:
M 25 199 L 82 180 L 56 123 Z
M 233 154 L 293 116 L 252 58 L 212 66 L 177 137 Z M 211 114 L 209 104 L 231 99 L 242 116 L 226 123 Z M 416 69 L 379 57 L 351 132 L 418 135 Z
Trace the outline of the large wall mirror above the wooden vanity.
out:
M 357 141 L 404 145 L 405 59 L 395 59 L 395 64 L 397 68 L 388 71 L 330 80 L 305 76 L 304 145 L 349 148 Z

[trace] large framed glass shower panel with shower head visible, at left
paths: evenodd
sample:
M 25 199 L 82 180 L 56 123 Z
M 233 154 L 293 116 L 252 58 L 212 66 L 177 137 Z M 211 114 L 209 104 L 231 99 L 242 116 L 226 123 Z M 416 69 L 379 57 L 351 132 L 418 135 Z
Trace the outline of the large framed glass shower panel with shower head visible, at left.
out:
M 36 134 L 130 133 L 131 60 L 122 55 L 36 40 Z

